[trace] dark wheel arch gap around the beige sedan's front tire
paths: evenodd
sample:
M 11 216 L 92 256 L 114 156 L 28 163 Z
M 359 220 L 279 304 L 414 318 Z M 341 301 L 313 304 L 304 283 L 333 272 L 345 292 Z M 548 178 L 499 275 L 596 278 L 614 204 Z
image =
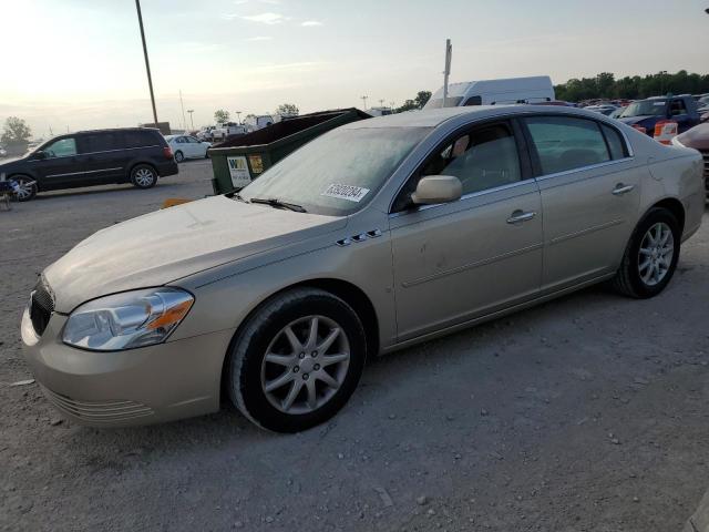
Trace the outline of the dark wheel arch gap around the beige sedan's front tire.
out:
M 319 277 L 314 279 L 301 280 L 298 283 L 294 283 L 291 285 L 285 286 L 277 291 L 269 294 L 265 297 L 258 305 L 255 305 L 254 308 L 246 315 L 246 317 L 242 320 L 239 326 L 236 328 L 234 336 L 232 337 L 232 341 L 229 341 L 229 346 L 227 347 L 227 352 L 224 356 L 224 361 L 222 362 L 222 378 L 220 378 L 220 388 L 222 388 L 222 397 L 226 397 L 226 369 L 228 365 L 229 354 L 234 349 L 234 345 L 237 341 L 242 330 L 244 330 L 245 325 L 248 320 L 254 316 L 264 305 L 267 305 L 274 298 L 280 296 L 286 291 L 290 291 L 296 288 L 319 288 L 321 290 L 328 291 L 336 297 L 339 297 L 345 303 L 347 303 L 362 323 L 362 327 L 364 328 L 364 338 L 367 341 L 367 355 L 371 356 L 379 354 L 379 318 L 377 316 L 377 310 L 374 309 L 374 305 L 367 294 L 356 286 L 354 284 L 331 277 Z

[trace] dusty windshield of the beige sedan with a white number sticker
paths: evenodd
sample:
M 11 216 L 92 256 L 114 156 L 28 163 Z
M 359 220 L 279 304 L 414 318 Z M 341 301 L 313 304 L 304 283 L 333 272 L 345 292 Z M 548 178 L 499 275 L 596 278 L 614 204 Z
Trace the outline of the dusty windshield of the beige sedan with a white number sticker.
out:
M 240 197 L 278 200 L 345 216 L 363 207 L 429 127 L 338 129 L 306 144 L 244 187 Z

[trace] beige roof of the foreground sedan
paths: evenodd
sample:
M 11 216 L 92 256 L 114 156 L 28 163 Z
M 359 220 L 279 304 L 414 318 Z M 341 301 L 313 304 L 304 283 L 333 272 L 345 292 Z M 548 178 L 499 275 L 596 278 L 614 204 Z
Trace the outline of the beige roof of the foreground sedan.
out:
M 475 114 L 481 119 L 503 116 L 510 114 L 571 114 L 598 119 L 598 113 L 577 108 L 559 105 L 472 105 L 461 108 L 431 109 L 425 111 L 408 111 L 404 113 L 376 116 L 373 119 L 351 122 L 343 127 L 370 129 L 370 127 L 435 127 L 456 116 Z

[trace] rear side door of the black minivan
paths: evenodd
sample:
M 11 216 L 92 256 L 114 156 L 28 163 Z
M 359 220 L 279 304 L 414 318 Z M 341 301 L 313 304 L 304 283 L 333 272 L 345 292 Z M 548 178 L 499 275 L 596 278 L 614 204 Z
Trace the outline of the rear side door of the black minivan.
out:
M 91 184 L 116 183 L 125 173 L 125 140 L 121 131 L 96 131 L 79 137 L 85 164 L 84 178 Z

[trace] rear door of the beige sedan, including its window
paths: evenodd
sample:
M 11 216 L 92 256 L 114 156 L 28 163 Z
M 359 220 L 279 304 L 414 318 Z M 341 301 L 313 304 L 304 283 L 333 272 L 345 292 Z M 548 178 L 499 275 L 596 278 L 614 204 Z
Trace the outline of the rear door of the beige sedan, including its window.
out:
M 606 123 L 561 115 L 523 122 L 544 209 L 542 290 L 614 272 L 637 219 L 646 166 Z

